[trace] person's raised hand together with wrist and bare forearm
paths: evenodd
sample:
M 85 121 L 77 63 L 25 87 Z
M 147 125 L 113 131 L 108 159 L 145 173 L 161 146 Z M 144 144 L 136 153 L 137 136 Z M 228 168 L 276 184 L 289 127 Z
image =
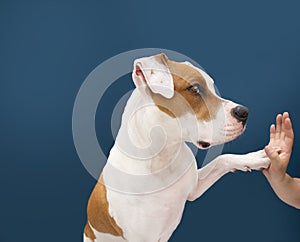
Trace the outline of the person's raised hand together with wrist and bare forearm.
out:
M 263 170 L 276 195 L 285 203 L 300 208 L 300 179 L 286 173 L 292 153 L 294 132 L 287 112 L 278 114 L 276 126 L 270 127 L 270 142 L 265 152 L 271 160 L 269 168 Z

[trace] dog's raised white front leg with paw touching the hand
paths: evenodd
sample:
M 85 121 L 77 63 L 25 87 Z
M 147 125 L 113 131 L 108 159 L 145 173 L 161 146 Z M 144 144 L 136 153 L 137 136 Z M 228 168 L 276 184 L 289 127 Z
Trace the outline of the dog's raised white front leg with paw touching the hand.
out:
M 220 155 L 208 165 L 198 170 L 198 182 L 189 195 L 188 200 L 193 201 L 200 197 L 217 180 L 230 171 L 251 171 L 267 168 L 270 160 L 264 150 L 245 155 Z

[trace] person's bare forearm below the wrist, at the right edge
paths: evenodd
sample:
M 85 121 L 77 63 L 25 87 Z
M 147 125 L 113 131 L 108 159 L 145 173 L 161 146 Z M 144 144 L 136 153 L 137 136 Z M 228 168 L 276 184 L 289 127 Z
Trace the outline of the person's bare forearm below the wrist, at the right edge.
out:
M 285 203 L 300 209 L 300 179 L 292 178 L 287 173 L 281 180 L 267 177 L 276 195 Z

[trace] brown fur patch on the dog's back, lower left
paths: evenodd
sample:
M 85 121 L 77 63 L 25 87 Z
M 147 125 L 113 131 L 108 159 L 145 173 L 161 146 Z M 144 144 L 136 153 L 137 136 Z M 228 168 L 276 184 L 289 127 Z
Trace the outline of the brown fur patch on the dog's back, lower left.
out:
M 97 182 L 88 202 L 87 217 L 91 226 L 101 233 L 107 233 L 114 236 L 123 237 L 123 231 L 118 226 L 113 217 L 110 216 L 108 211 L 108 201 L 106 196 L 106 187 L 103 184 L 103 175 L 101 174 L 99 181 Z M 87 224 L 88 225 L 88 224 Z M 90 234 L 91 228 L 86 226 L 85 231 L 93 240 L 93 235 Z M 91 230 L 91 232 L 93 232 Z

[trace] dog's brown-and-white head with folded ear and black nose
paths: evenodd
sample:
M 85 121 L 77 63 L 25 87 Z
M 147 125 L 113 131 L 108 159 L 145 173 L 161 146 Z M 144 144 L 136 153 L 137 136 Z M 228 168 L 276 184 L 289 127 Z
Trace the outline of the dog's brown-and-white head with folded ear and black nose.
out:
M 213 79 L 189 62 L 171 61 L 165 54 L 140 58 L 132 77 L 168 122 L 180 120 L 184 140 L 198 148 L 231 141 L 245 129 L 248 109 L 219 97 Z

